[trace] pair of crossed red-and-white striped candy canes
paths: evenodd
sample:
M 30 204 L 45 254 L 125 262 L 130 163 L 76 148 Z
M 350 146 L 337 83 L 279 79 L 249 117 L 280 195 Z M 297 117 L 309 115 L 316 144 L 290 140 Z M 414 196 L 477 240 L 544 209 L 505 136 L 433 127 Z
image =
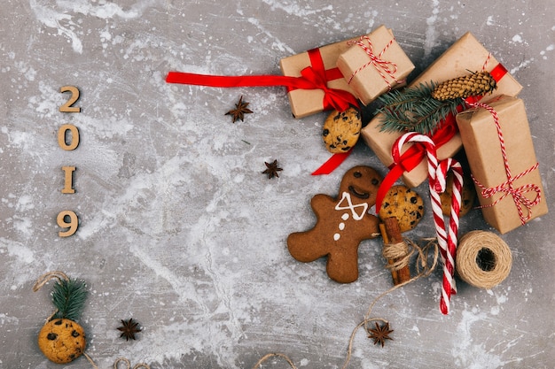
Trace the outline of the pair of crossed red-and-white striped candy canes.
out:
M 394 144 L 393 154 L 398 156 L 406 142 L 418 142 L 426 148 L 428 161 L 428 181 L 430 188 L 430 200 L 432 211 L 434 211 L 434 225 L 437 242 L 440 247 L 443 261 L 443 282 L 440 310 L 443 314 L 449 314 L 449 302 L 451 295 L 457 293 L 455 280 L 455 257 L 457 254 L 458 214 L 461 204 L 461 188 L 463 187 L 463 169 L 457 160 L 448 158 L 438 161 L 435 152 L 435 144 L 426 135 L 409 132 L 399 137 Z M 442 201 L 440 194 L 446 189 L 446 177 L 449 169 L 453 172 L 453 187 L 451 196 L 451 213 L 449 217 L 449 229 L 446 229 L 442 213 Z

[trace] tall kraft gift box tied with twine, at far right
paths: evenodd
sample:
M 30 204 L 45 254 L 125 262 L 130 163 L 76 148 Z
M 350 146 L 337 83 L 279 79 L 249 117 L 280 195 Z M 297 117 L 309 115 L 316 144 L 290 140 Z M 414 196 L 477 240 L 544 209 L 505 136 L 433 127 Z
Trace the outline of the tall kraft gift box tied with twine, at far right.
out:
M 520 98 L 499 96 L 485 106 L 461 112 L 457 126 L 481 211 L 489 225 L 504 234 L 547 213 L 534 143 Z

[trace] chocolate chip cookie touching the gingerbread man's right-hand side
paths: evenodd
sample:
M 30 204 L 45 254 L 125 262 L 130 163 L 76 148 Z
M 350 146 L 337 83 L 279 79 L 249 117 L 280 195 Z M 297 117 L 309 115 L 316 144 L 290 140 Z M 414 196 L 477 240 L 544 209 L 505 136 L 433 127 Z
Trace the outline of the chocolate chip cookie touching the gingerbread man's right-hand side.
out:
M 402 233 L 410 231 L 418 225 L 424 215 L 424 201 L 414 190 L 406 186 L 393 186 L 387 191 L 378 215 L 382 220 L 395 217 Z

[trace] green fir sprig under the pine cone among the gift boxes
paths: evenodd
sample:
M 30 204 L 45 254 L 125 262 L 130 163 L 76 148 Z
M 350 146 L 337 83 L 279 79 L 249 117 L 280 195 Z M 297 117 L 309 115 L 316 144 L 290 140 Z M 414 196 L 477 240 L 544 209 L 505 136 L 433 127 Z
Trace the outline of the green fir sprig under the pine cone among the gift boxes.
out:
M 383 114 L 380 131 L 426 135 L 439 128 L 449 113 L 457 114 L 457 106 L 463 104 L 463 99 L 436 100 L 432 97 L 435 87 L 434 82 L 420 83 L 418 87 L 395 89 L 379 96 L 383 104 L 376 111 Z

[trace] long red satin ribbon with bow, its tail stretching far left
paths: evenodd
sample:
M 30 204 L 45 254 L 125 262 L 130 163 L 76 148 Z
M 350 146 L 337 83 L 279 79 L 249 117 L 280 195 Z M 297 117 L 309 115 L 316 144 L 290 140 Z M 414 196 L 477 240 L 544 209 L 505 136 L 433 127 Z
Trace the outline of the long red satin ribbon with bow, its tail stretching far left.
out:
M 350 105 L 358 106 L 355 96 L 348 91 L 327 86 L 328 81 L 343 78 L 343 76 L 337 68 L 325 70 L 319 49 L 309 50 L 309 58 L 312 65 L 301 70 L 301 77 L 285 75 L 224 76 L 169 72 L 166 82 L 220 88 L 285 86 L 288 91 L 297 88 L 322 89 L 324 91 L 322 102 L 324 110 L 346 111 Z

